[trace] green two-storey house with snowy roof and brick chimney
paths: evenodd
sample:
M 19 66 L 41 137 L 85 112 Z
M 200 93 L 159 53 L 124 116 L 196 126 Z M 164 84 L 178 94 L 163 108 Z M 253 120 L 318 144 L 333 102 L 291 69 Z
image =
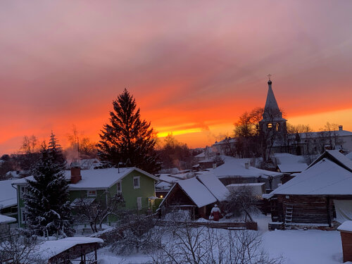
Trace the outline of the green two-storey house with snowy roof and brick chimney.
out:
M 65 171 L 70 190 L 70 201 L 75 203 L 78 199 L 89 198 L 106 202 L 108 196 L 117 193 L 122 194 L 125 200 L 125 208 L 131 210 L 153 210 L 155 184 L 158 178 L 139 168 L 106 168 L 99 170 L 80 170 L 73 167 Z M 20 227 L 25 226 L 25 205 L 23 194 L 26 189 L 27 180 L 33 177 L 26 177 L 15 180 L 13 186 L 17 189 L 18 223 Z M 111 221 L 112 218 L 106 219 Z

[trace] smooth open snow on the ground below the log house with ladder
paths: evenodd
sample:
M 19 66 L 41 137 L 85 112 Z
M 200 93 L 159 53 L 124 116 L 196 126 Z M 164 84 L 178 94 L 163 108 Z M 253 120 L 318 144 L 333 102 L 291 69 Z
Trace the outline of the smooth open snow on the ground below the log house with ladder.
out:
M 271 257 L 284 256 L 284 264 L 343 263 L 338 231 L 275 230 L 263 234 L 263 246 Z

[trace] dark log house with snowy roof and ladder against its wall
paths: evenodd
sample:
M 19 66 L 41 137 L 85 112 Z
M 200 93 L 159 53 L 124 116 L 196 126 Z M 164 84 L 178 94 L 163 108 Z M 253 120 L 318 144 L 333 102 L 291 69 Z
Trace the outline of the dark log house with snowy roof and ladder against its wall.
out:
M 334 229 L 352 211 L 352 161 L 338 151 L 325 151 L 306 170 L 264 197 L 271 201 L 272 222 L 282 222 L 288 229 Z

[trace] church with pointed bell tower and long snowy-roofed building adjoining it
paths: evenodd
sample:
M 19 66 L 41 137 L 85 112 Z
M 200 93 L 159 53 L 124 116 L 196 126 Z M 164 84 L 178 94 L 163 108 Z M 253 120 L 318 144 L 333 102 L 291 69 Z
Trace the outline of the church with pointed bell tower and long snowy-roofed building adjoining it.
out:
M 271 80 L 268 82 L 263 119 L 260 120 L 258 129 L 270 143 L 269 156 L 272 153 L 311 155 L 313 161 L 315 156 L 323 153 L 325 149 L 338 149 L 344 153 L 352 151 L 352 132 L 344 130 L 342 125 L 339 125 L 338 130 L 289 134 L 287 120 L 282 118 Z M 226 137 L 220 142 L 215 142 L 212 150 L 216 149 L 221 155 L 236 156 L 236 144 L 237 138 Z

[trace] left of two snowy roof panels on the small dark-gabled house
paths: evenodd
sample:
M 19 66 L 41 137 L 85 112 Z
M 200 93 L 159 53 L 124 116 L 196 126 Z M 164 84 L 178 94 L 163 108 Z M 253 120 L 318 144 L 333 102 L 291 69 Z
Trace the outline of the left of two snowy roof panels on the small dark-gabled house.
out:
M 177 182 L 181 189 L 189 196 L 196 206 L 203 207 L 217 200 L 210 191 L 196 177 Z

